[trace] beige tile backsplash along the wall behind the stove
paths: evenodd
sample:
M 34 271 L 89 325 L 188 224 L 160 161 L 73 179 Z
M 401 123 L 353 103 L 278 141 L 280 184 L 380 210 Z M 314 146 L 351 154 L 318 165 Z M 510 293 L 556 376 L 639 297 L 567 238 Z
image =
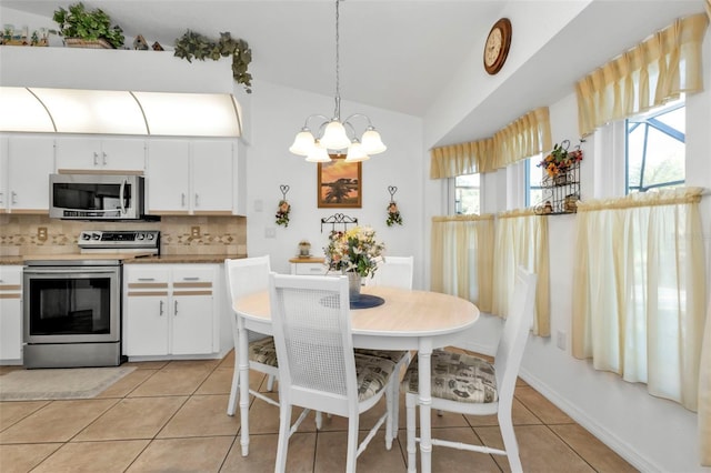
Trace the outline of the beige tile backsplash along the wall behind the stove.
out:
M 42 234 L 47 229 L 46 234 Z M 79 253 L 83 230 L 160 230 L 161 254 L 247 254 L 247 218 L 162 217 L 160 222 L 82 222 L 0 214 L 0 255 Z

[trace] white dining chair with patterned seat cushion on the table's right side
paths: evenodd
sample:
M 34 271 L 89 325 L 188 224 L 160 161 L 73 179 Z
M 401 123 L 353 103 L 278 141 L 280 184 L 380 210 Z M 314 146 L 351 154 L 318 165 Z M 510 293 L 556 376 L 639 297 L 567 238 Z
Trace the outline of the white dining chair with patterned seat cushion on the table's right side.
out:
M 533 321 L 534 300 L 535 274 L 519 268 L 511 310 L 503 324 L 493 363 L 461 352 L 432 351 L 431 407 L 467 415 L 497 414 L 503 450 L 439 439 L 432 439 L 432 445 L 505 455 L 511 471 L 522 471 L 511 410 L 515 380 Z M 414 407 L 419 404 L 418 382 L 415 361 L 402 380 L 407 409 L 408 472 L 415 471 Z

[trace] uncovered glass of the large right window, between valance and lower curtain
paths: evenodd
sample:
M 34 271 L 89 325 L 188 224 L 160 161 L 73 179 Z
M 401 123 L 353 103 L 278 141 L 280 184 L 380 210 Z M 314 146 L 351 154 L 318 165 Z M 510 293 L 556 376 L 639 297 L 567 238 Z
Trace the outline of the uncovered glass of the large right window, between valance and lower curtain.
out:
M 685 124 L 683 102 L 625 121 L 628 194 L 683 185 Z

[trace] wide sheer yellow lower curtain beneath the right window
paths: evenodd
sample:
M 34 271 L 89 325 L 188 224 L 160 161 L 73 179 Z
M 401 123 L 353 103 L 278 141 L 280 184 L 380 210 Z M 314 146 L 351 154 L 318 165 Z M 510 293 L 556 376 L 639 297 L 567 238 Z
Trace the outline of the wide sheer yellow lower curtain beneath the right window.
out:
M 701 192 L 579 202 L 573 263 L 573 355 L 692 411 L 705 318 Z

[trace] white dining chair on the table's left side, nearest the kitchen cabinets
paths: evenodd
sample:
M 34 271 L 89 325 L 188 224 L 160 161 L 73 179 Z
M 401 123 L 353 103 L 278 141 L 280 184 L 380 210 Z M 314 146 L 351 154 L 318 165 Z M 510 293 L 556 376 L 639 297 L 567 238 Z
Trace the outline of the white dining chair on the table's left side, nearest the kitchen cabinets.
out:
M 234 302 L 240 298 L 252 294 L 254 292 L 267 291 L 269 289 L 270 272 L 269 255 L 243 258 L 237 260 L 224 260 L 224 275 L 228 288 L 230 309 L 234 306 Z M 238 336 L 238 318 L 232 313 L 232 335 L 234 338 L 234 372 L 232 373 L 232 386 L 230 388 L 230 399 L 228 401 L 227 413 L 234 415 L 237 403 L 239 401 L 240 373 L 238 363 L 239 336 Z M 249 341 L 249 369 L 256 370 L 269 375 L 267 389 L 272 391 L 274 379 L 279 375 L 277 363 L 277 350 L 274 348 L 274 339 L 270 335 L 261 333 L 248 332 Z M 279 402 L 266 396 L 264 394 L 249 390 L 250 394 L 261 399 L 273 405 Z

